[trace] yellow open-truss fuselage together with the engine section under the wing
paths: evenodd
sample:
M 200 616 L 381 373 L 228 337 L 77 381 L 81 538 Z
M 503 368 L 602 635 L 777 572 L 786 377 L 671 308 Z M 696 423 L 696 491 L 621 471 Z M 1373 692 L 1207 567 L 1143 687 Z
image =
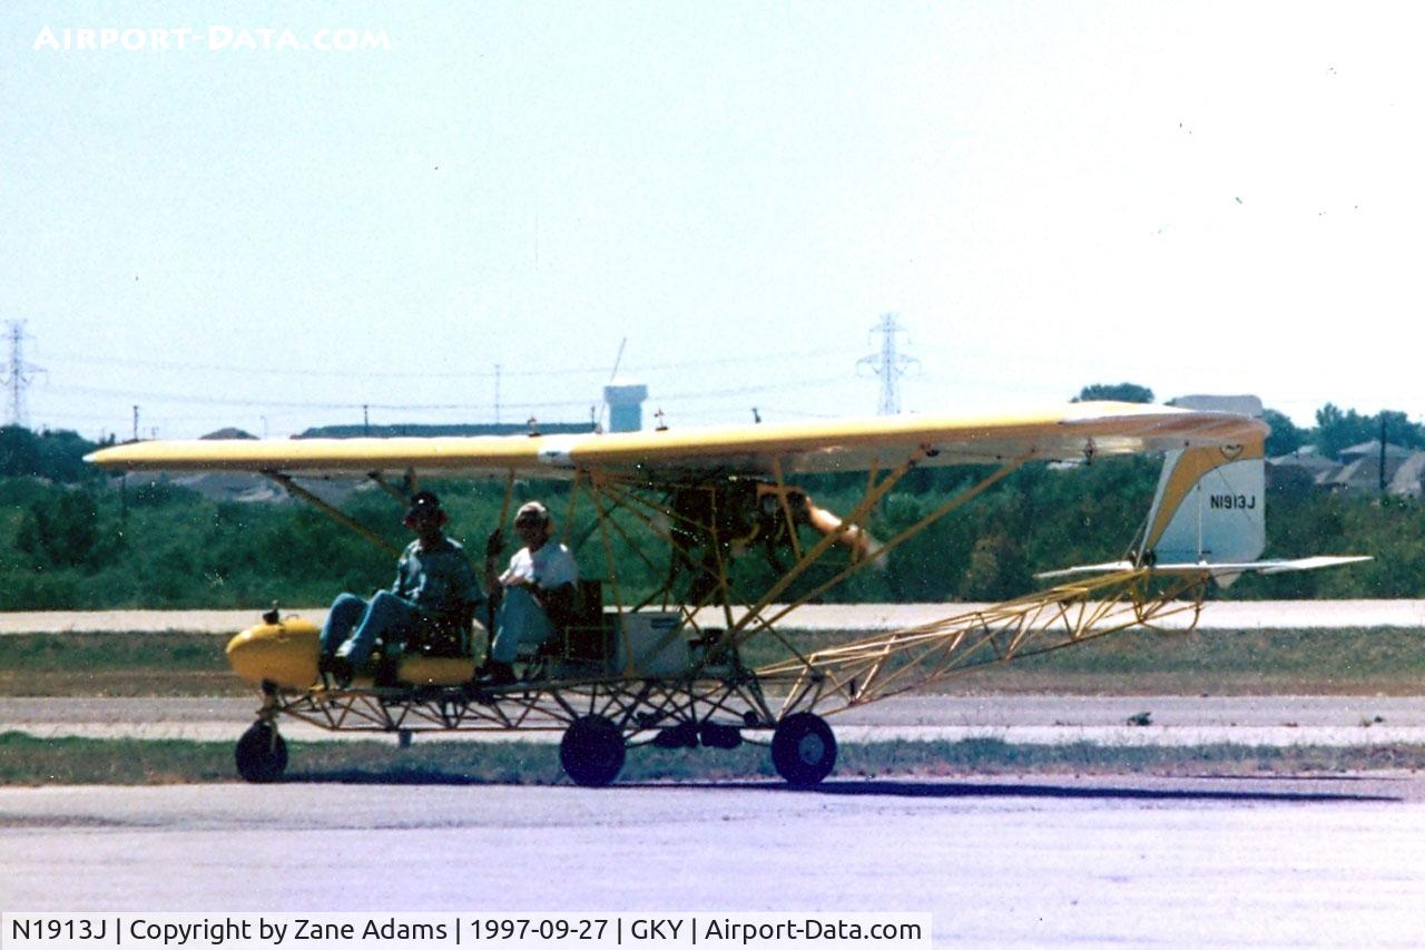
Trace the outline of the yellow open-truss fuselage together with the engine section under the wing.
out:
M 673 635 L 697 638 L 700 652 L 675 673 L 644 675 L 633 666 L 596 668 L 544 662 L 526 680 L 507 686 L 395 686 L 305 690 L 266 688 L 259 717 L 288 716 L 323 729 L 425 733 L 449 730 L 561 730 L 583 716 L 613 722 L 630 743 L 693 740 L 700 729 L 772 730 L 798 712 L 835 713 L 886 696 L 923 689 L 956 673 L 1059 650 L 1126 629 L 1153 629 L 1174 618 L 1174 629 L 1196 625 L 1208 575 L 1167 576 L 1131 568 L 1062 583 L 992 608 L 950 612 L 932 623 L 845 639 L 807 649 L 788 635 L 792 612 L 950 515 L 1032 456 L 999 466 L 955 492 L 923 518 L 888 538 L 874 552 L 846 545 L 866 536 L 876 504 L 916 465 L 912 452 L 886 469 L 874 468 L 855 508 L 815 539 L 804 538 L 809 499 L 774 464 L 768 478 L 701 475 L 678 484 L 650 484 L 598 469 L 579 474 L 570 492 L 596 514 L 606 583 L 610 636 L 643 609 L 674 609 Z M 571 523 L 566 518 L 564 523 Z M 587 536 L 594 541 L 593 533 Z M 731 562 L 737 552 L 765 543 L 789 555 L 775 581 L 740 591 Z M 624 558 L 637 558 L 664 578 L 651 592 L 631 596 L 620 576 Z M 586 556 L 586 562 L 589 558 Z M 828 566 L 829 565 L 829 566 Z M 798 583 L 817 566 L 815 583 Z M 695 596 L 688 598 L 687 592 Z M 787 596 L 797 591 L 797 596 Z M 715 616 L 715 626 L 700 618 Z M 752 638 L 775 640 L 785 659 L 748 666 Z M 620 652 L 627 658 L 627 650 Z M 678 732 L 681 729 L 681 732 Z M 725 733 L 724 733 L 725 735 Z M 661 739 L 660 739 L 661 737 Z M 715 745 L 708 743 L 708 745 Z

